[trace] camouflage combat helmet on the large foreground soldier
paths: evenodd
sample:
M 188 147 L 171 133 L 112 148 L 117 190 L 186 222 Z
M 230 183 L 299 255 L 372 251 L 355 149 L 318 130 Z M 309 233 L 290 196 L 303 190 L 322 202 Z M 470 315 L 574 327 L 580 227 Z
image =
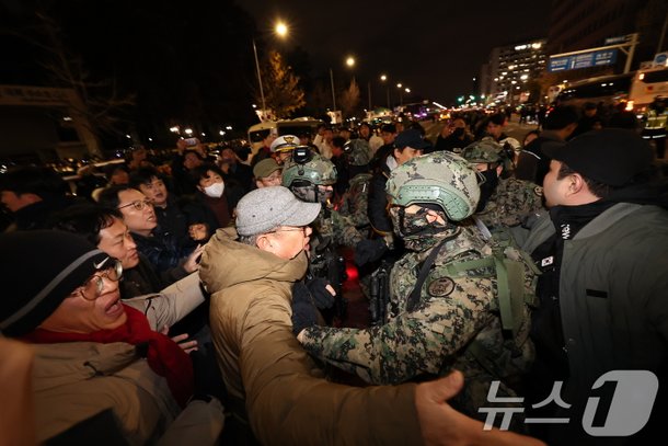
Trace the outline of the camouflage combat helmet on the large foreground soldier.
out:
M 477 178 L 475 168 L 460 156 L 437 151 L 394 169 L 385 192 L 392 204 L 436 204 L 448 219 L 459 221 L 475 211 L 480 199 Z

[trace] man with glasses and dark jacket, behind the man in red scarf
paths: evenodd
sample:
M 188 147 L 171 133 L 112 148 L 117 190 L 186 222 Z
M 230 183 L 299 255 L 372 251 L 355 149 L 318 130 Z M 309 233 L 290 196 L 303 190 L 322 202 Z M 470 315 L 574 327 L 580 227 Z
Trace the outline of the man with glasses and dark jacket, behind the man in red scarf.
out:
M 99 203 L 120 210 L 137 249 L 156 271 L 170 272 L 175 279 L 197 271 L 203 248 L 198 244 L 194 250 L 183 249 L 176 237 L 156 237 L 158 218 L 151 201 L 140 191 L 128 185 L 112 186 L 100 194 Z

